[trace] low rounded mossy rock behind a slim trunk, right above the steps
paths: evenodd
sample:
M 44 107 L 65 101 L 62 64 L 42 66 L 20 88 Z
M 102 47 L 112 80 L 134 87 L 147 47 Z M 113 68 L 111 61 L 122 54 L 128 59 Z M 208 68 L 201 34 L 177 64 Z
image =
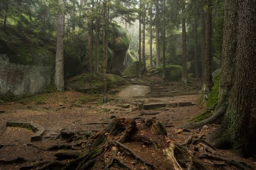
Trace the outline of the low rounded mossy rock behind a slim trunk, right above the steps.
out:
M 151 68 L 150 71 L 162 77 L 162 67 Z M 178 81 L 182 78 L 182 67 L 178 65 L 166 65 L 166 79 Z

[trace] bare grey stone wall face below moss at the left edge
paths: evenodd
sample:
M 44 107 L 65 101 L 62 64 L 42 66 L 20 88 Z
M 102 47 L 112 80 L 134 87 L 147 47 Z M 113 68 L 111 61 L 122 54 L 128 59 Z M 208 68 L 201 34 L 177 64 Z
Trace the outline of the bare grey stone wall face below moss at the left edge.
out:
M 51 83 L 54 66 L 30 66 L 9 62 L 5 54 L 0 54 L 0 96 L 32 95 L 39 93 Z

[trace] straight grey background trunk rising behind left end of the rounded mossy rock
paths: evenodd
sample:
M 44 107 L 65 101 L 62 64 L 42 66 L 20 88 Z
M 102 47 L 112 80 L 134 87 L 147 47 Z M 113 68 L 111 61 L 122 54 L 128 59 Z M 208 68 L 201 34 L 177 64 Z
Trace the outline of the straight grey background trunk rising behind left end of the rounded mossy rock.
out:
M 156 60 L 157 67 L 160 66 L 160 40 L 159 40 L 159 1 L 156 0 Z

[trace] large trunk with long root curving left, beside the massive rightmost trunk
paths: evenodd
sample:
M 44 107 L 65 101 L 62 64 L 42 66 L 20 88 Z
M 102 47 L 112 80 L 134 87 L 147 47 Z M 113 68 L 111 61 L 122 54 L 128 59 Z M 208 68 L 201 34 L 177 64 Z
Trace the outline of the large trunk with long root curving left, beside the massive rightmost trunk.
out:
M 221 59 L 221 77 L 219 85 L 218 103 L 213 115 L 196 123 L 189 123 L 183 127 L 197 128 L 206 124 L 221 122 L 226 112 L 229 92 L 234 83 L 235 57 L 236 56 L 236 36 L 237 36 L 237 4 L 231 0 L 225 2 L 224 13 L 224 39 Z

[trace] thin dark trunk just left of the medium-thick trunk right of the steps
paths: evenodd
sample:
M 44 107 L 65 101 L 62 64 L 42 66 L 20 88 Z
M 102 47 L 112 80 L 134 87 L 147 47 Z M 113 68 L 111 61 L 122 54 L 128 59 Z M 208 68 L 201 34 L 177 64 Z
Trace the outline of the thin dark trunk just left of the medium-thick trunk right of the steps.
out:
M 204 57 L 205 57 L 205 17 L 204 11 L 200 14 L 200 24 L 201 24 L 201 62 L 202 62 L 202 80 L 204 81 Z

